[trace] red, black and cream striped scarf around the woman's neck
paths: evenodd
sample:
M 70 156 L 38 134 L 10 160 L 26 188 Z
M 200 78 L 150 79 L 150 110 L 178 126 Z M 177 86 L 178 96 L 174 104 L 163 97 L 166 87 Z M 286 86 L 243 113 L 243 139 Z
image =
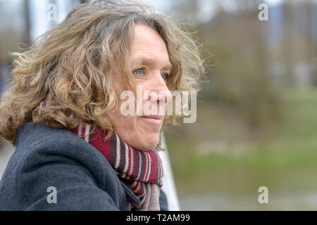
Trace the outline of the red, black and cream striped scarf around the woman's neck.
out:
M 100 127 L 92 132 L 92 124 L 83 119 L 73 133 L 90 143 L 104 155 L 116 174 L 127 179 L 132 191 L 141 200 L 139 205 L 132 204 L 136 210 L 159 210 L 159 188 L 163 185 L 163 167 L 155 148 L 136 150 L 122 141 L 116 132 L 104 141 L 107 131 Z

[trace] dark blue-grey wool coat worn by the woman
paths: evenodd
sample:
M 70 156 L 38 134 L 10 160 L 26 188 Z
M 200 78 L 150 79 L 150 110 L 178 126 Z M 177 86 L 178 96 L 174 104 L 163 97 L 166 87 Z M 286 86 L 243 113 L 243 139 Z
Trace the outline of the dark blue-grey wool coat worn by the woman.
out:
M 0 210 L 131 210 L 130 201 L 139 198 L 128 182 L 79 136 L 30 122 L 18 128 L 0 181 Z M 159 201 L 168 210 L 162 190 Z

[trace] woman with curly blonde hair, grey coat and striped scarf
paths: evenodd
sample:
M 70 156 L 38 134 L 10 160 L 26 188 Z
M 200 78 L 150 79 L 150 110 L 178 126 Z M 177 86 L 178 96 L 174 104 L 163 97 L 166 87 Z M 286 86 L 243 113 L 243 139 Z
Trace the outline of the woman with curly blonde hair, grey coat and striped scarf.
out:
M 196 89 L 203 67 L 187 33 L 147 6 L 94 1 L 15 56 L 0 210 L 168 210 L 156 150 L 175 116 L 123 115 L 120 96 L 141 86 L 159 96 L 142 105 L 166 112 L 170 91 Z

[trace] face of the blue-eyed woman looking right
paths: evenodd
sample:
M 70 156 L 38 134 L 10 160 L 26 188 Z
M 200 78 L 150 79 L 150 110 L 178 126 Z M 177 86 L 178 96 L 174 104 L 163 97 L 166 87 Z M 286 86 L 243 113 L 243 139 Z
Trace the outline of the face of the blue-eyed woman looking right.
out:
M 159 107 L 163 106 L 164 113 L 166 112 L 166 102 L 170 99 L 166 78 L 170 74 L 171 64 L 166 44 L 159 33 L 147 25 L 139 24 L 135 25 L 134 33 L 131 45 L 131 66 L 137 78 L 137 84 L 142 86 L 143 96 L 147 96 L 143 99 L 142 105 L 147 103 L 149 107 L 146 108 L 149 110 L 156 106 L 158 112 L 151 113 L 149 116 L 139 114 L 125 116 L 116 112 L 108 116 L 120 139 L 138 150 L 148 150 L 159 142 L 163 122 L 163 116 L 159 116 Z M 166 96 L 159 96 L 160 91 Z M 148 95 L 144 95 L 146 93 Z M 154 95 L 157 98 L 154 98 Z M 135 96 L 136 99 L 137 96 Z

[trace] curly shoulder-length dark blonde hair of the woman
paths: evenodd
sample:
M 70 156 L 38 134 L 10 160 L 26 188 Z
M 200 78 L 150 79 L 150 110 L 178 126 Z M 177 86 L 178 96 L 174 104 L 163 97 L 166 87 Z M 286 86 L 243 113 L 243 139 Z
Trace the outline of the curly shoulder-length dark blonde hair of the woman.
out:
M 1 97 L 0 135 L 15 146 L 24 122 L 74 129 L 85 118 L 110 136 L 113 124 L 101 115 L 118 108 L 114 76 L 125 89 L 136 86 L 129 53 L 135 24 L 151 27 L 165 41 L 173 65 L 168 89 L 197 89 L 204 66 L 190 32 L 145 4 L 92 1 L 73 8 L 27 49 L 11 53 L 15 60 Z M 39 108 L 44 100 L 45 107 Z M 162 127 L 175 124 L 175 118 L 166 116 Z

